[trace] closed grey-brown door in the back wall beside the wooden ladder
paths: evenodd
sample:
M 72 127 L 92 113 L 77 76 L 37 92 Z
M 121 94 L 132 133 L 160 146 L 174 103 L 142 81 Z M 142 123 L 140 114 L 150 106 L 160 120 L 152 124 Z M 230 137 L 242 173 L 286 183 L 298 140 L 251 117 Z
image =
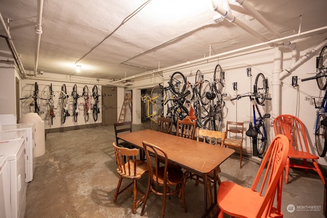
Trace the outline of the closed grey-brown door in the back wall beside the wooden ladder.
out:
M 102 86 L 102 125 L 117 122 L 117 89 L 110 86 Z

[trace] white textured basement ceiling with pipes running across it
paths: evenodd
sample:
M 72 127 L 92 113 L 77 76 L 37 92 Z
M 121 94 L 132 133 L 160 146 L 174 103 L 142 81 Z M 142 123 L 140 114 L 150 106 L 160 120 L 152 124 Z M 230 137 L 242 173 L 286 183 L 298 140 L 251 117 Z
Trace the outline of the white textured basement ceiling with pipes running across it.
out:
M 325 8 L 325 0 L 1 1 L 8 27 L 1 18 L 0 35 L 12 49 L 0 40 L 0 52 L 12 50 L 23 78 L 25 69 L 73 75 L 78 62 L 76 76 L 117 83 L 264 45 L 293 50 L 291 71 L 305 59 L 296 61 L 298 52 L 310 49 L 294 40 L 327 38 L 316 16 Z

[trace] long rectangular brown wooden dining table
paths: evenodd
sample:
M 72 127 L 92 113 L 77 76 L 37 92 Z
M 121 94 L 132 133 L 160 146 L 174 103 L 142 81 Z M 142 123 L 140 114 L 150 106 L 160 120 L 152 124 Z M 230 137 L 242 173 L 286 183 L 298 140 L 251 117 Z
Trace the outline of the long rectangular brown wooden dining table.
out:
M 163 149 L 170 162 L 182 168 L 196 173 L 207 180 L 208 173 L 216 171 L 220 164 L 228 159 L 235 150 L 205 144 L 196 140 L 185 139 L 174 135 L 157 132 L 151 129 L 139 130 L 132 133 L 118 135 L 118 137 L 129 142 L 136 147 L 143 148 L 143 141 L 154 144 Z M 217 178 L 214 177 L 215 198 L 212 205 L 207 205 L 207 183 L 204 182 L 204 215 L 207 214 L 217 204 Z

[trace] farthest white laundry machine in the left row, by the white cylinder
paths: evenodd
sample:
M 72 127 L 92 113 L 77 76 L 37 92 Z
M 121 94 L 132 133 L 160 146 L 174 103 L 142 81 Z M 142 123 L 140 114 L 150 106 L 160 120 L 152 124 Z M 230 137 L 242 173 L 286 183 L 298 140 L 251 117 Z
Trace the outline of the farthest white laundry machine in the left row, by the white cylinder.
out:
M 26 130 L 26 182 L 31 182 L 35 171 L 35 124 L 34 123 L 17 123 L 12 125 L 3 125 L 2 131 L 7 130 Z

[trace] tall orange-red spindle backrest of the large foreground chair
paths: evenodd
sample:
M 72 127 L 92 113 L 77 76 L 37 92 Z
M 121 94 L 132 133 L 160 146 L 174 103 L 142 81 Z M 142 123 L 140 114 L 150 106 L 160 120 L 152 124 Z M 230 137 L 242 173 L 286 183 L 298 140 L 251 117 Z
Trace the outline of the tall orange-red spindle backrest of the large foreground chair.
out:
M 287 137 L 278 134 L 268 147 L 251 187 L 252 191 L 257 191 L 263 197 L 262 205 L 253 217 L 267 217 L 267 213 L 270 213 L 277 185 L 283 177 L 289 151 L 288 144 Z

